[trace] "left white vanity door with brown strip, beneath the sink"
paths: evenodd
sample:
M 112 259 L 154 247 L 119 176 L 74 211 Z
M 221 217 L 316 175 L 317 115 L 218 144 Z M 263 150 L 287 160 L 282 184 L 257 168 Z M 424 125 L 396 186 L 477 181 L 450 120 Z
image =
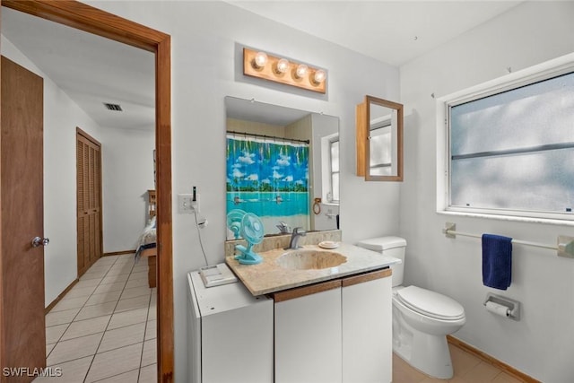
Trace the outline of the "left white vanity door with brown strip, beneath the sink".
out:
M 274 294 L 275 383 L 341 381 L 340 286 L 329 281 Z

